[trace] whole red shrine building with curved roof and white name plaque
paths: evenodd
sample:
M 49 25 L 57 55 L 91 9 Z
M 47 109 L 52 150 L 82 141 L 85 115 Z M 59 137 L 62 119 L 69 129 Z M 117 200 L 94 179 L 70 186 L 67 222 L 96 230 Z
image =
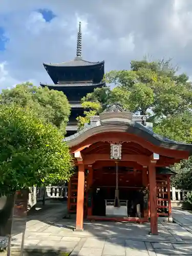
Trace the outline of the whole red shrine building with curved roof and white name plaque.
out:
M 115 104 L 64 139 L 76 166 L 68 186 L 76 229 L 83 229 L 83 219 L 150 222 L 157 234 L 158 217 L 171 218 L 174 172 L 166 166 L 187 159 L 192 145 L 157 135 L 151 126 L 146 116 Z

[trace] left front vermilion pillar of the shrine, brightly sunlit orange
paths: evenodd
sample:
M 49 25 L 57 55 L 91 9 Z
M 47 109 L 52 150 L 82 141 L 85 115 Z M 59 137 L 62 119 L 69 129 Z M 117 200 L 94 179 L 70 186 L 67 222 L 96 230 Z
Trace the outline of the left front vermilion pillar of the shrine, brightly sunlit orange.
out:
M 83 230 L 84 165 L 78 165 L 76 230 Z

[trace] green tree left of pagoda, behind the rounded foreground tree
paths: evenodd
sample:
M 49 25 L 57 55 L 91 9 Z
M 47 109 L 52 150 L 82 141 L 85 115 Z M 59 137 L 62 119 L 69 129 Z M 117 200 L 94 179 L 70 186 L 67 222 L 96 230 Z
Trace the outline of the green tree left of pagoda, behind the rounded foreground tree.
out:
M 14 102 L 22 107 L 27 106 L 65 134 L 70 115 L 70 104 L 62 92 L 35 87 L 32 83 L 26 82 L 17 84 L 10 90 L 3 90 L 0 100 L 3 104 Z

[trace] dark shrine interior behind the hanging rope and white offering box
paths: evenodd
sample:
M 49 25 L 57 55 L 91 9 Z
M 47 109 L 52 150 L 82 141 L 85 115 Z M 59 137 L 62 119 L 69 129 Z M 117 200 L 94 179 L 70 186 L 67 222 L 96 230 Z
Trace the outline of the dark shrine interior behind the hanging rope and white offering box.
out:
M 131 167 L 119 167 L 119 200 L 127 201 L 127 217 L 143 217 L 144 194 L 142 171 Z M 93 172 L 92 199 L 93 216 L 105 216 L 105 200 L 115 200 L 116 170 L 115 166 L 95 169 Z M 112 202 L 113 203 L 113 202 Z M 137 205 L 139 206 L 139 212 Z M 147 207 L 145 205 L 145 207 Z

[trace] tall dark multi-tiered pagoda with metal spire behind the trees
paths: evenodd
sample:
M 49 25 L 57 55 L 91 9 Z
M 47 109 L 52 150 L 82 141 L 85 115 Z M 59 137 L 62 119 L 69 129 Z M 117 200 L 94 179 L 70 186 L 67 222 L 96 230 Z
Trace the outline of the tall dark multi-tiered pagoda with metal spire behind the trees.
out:
M 104 61 L 91 62 L 82 59 L 81 55 L 81 23 L 77 36 L 77 53 L 73 60 L 61 63 L 44 63 L 54 84 L 40 83 L 41 87 L 62 91 L 71 104 L 71 115 L 67 125 L 67 136 L 77 132 L 78 116 L 83 116 L 81 98 L 103 87 Z

